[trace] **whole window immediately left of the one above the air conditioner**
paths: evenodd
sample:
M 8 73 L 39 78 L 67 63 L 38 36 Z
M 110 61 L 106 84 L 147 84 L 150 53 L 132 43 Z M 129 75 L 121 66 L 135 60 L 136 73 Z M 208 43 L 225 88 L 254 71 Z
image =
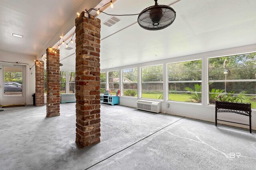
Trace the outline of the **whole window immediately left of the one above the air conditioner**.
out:
M 138 69 L 123 70 L 123 96 L 137 96 Z

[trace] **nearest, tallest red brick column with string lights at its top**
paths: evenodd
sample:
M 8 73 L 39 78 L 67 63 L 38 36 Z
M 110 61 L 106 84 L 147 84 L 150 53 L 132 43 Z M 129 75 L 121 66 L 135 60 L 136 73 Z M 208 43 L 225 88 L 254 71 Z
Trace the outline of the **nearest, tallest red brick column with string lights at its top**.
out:
M 100 142 L 100 19 L 76 18 L 76 143 Z

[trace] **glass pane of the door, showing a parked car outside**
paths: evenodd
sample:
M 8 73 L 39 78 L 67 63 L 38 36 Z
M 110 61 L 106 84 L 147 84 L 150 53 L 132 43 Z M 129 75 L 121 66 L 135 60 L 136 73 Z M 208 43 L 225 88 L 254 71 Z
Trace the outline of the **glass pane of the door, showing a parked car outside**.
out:
M 22 96 L 23 68 L 4 67 L 4 96 Z

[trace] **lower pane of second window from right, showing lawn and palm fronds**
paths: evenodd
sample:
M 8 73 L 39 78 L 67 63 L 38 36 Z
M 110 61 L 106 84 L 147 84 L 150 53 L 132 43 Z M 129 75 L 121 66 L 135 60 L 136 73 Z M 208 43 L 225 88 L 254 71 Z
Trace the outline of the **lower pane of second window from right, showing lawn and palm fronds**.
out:
M 168 83 L 170 101 L 202 103 L 202 83 Z

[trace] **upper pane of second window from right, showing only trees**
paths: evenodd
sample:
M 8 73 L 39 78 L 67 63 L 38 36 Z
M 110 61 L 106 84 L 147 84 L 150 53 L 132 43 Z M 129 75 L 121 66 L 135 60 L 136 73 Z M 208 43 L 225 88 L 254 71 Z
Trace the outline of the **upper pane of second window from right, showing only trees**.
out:
M 202 60 L 168 64 L 168 81 L 202 80 Z

